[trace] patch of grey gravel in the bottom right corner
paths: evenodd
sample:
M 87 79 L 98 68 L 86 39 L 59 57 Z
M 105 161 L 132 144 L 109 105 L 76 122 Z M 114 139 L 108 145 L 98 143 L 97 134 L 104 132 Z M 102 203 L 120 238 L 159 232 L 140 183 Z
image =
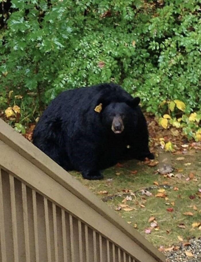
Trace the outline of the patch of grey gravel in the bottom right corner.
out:
M 201 232 L 200 232 L 201 234 Z M 179 244 L 179 250 L 165 252 L 166 262 L 201 262 L 201 238 L 189 240 L 190 246 Z M 185 252 L 191 252 L 194 257 L 188 257 Z

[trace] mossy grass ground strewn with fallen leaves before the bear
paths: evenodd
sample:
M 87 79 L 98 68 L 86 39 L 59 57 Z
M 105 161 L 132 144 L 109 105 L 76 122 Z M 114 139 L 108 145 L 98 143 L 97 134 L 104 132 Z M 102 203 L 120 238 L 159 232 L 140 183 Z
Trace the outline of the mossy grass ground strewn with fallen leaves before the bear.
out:
M 179 156 L 184 160 L 176 160 Z M 192 223 L 201 222 L 201 198 L 198 190 L 201 188 L 201 152 L 188 152 L 185 155 L 171 155 L 171 162 L 174 168 L 173 173 L 177 174 L 180 169 L 181 178 L 165 177 L 156 173 L 158 166 L 149 167 L 143 162 L 131 160 L 123 162 L 123 166 L 115 166 L 105 170 L 104 179 L 101 181 L 89 181 L 82 178 L 80 173 L 71 172 L 83 185 L 94 192 L 100 199 L 107 200 L 114 211 L 122 200 L 134 192 L 131 201 L 126 204 L 134 208 L 132 211 L 115 211 L 125 219 L 132 227 L 145 236 L 154 246 L 171 246 L 179 242 L 178 236 L 183 241 L 188 241 L 192 237 L 200 237 L 201 231 L 198 227 L 193 228 Z M 187 166 L 185 163 L 191 163 Z M 183 171 L 181 170 L 183 169 Z M 137 171 L 133 174 L 132 171 Z M 120 175 L 116 175 L 120 173 Z M 186 179 L 192 173 L 194 177 L 189 181 Z M 188 180 L 188 179 L 187 179 Z M 154 185 L 158 182 L 159 186 Z M 167 198 L 155 197 L 159 189 L 165 185 Z M 152 196 L 142 195 L 140 190 L 148 188 Z M 178 189 L 177 189 L 178 188 Z M 130 190 L 130 192 L 127 192 Z M 107 191 L 107 194 L 100 194 L 100 191 Z M 132 193 L 133 194 L 133 193 Z M 111 196 L 111 197 L 110 197 Z M 191 199 L 192 198 L 192 199 Z M 174 203 L 173 203 L 174 202 Z M 143 205 L 145 207 L 142 207 Z M 197 210 L 193 207 L 196 206 Z M 167 211 L 173 208 L 172 212 Z M 195 208 L 195 207 L 194 207 Z M 184 212 L 192 212 L 193 215 L 183 215 Z M 153 216 L 158 223 L 159 229 L 151 230 L 151 234 L 146 234 L 145 230 L 150 227 L 148 219 Z M 184 224 L 185 228 L 178 227 Z

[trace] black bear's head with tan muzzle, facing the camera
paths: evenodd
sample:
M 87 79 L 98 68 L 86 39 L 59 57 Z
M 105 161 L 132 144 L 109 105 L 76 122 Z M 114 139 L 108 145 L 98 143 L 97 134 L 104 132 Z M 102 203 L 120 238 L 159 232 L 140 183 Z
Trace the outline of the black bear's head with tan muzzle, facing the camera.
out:
M 109 104 L 104 104 L 103 102 L 103 110 L 101 112 L 103 125 L 115 134 L 121 134 L 124 128 L 131 121 L 133 122 L 137 114 L 135 108 L 139 103 L 139 97 L 125 102 L 111 102 Z

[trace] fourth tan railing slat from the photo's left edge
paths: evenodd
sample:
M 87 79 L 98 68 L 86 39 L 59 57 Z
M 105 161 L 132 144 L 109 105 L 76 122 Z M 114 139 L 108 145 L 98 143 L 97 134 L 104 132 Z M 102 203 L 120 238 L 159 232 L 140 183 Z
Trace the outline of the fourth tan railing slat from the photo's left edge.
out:
M 38 219 L 37 219 L 37 206 L 36 206 L 36 192 L 34 190 L 32 190 L 32 201 L 33 201 L 33 215 L 34 215 L 34 241 L 35 241 L 36 262 L 39 262 Z

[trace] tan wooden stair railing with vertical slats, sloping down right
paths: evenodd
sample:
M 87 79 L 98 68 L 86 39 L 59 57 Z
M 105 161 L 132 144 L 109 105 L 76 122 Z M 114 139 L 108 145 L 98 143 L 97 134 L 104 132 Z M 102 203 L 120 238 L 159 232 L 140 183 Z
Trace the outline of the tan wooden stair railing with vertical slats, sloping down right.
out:
M 0 119 L 1 262 L 164 262 L 80 182 Z

